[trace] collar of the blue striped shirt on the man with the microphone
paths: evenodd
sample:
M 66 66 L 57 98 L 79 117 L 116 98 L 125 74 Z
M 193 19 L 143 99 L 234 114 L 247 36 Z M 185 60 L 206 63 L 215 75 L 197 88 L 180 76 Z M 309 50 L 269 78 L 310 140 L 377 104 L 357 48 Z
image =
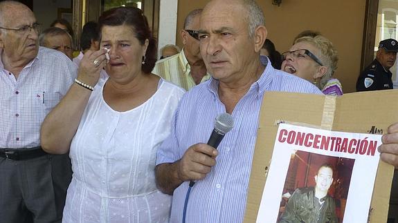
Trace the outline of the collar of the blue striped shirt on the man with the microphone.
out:
M 271 84 L 275 68 L 271 66 L 271 61 L 269 61 L 268 58 L 267 61 L 268 62 L 266 64 L 268 65 L 266 65 L 260 78 L 251 84 L 248 93 L 255 91 L 255 93 L 262 95 L 262 93 L 264 93 L 264 91 L 268 88 L 269 84 Z M 214 95 L 218 95 L 218 85 L 219 81 L 213 77 L 210 77 L 210 79 L 207 81 L 208 90 L 210 90 L 210 92 L 212 92 Z

